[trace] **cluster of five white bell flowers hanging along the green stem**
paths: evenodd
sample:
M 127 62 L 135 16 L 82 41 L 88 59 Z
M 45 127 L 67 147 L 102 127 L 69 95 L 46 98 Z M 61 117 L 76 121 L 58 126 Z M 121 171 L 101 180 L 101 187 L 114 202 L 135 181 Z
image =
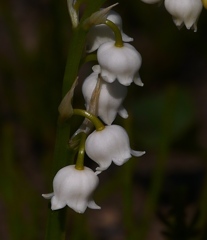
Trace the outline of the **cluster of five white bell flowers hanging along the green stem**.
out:
M 133 39 L 123 33 L 121 17 L 111 10 L 106 20 L 118 28 L 121 36 L 118 41 L 121 41 L 121 45 L 117 44 L 116 34 L 108 25 L 99 24 L 90 28 L 86 49 L 87 52 L 97 51 L 98 64 L 94 65 L 93 72 L 82 86 L 86 111 L 89 112 L 97 82 L 100 83 L 98 98 L 96 96 L 97 111 L 92 114 L 104 122 L 103 129 L 87 133 L 84 144 L 86 154 L 98 167 L 96 172 L 85 166 L 79 169 L 76 165 L 60 169 L 53 180 L 54 192 L 43 194 L 44 198 L 51 199 L 52 210 L 66 205 L 78 213 L 83 213 L 87 207 L 99 209 L 92 200 L 92 194 L 98 185 L 97 174 L 106 170 L 112 162 L 120 166 L 132 156 L 138 157 L 145 153 L 132 150 L 125 129 L 113 124 L 117 113 L 123 118 L 128 117 L 122 105 L 127 95 L 127 86 L 132 82 L 143 86 L 139 77 L 142 58 L 132 45 L 126 43 Z

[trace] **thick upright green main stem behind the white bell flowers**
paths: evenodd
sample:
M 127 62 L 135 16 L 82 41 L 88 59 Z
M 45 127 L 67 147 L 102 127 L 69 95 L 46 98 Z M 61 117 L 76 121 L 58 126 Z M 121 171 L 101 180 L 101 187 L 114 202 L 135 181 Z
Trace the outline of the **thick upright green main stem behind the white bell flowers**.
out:
M 104 3 L 103 0 L 97 0 L 93 4 L 89 1 L 88 7 L 85 11 L 84 18 L 90 16 L 93 11 L 97 11 Z M 63 78 L 62 97 L 68 92 L 74 80 L 78 75 L 80 59 L 82 57 L 85 46 L 86 32 L 81 28 L 81 25 L 73 29 L 72 37 L 69 46 L 68 59 Z M 72 154 L 67 149 L 67 143 L 70 134 L 70 123 L 59 124 L 57 126 L 57 137 L 54 152 L 54 161 L 52 166 L 52 177 L 56 172 L 73 162 Z M 46 240 L 64 240 L 66 236 L 66 208 L 52 211 L 50 205 L 48 206 L 48 221 L 46 230 Z

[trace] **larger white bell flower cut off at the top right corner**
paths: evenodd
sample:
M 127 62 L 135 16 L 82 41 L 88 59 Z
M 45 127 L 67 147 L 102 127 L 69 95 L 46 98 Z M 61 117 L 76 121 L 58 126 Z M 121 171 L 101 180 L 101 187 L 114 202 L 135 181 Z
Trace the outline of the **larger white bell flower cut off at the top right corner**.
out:
M 197 20 L 202 11 L 201 0 L 165 0 L 165 8 L 173 16 L 176 26 L 184 23 L 187 29 L 197 31 Z

